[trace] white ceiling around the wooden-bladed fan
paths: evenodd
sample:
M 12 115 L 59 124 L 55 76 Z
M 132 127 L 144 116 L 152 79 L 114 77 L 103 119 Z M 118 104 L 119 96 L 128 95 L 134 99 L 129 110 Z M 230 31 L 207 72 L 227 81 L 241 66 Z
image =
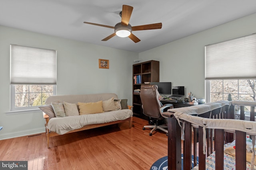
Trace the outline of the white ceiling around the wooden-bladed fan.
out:
M 162 22 L 162 29 L 134 31 L 140 42 L 115 36 L 122 5 L 133 6 L 132 26 Z M 0 0 L 0 25 L 127 51 L 142 52 L 256 13 L 256 0 Z

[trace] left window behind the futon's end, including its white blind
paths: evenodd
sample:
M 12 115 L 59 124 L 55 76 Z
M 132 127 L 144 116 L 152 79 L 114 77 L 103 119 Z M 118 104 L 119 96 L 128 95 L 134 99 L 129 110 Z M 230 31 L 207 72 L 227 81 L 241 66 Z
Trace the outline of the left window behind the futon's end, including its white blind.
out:
M 55 95 L 56 50 L 10 45 L 11 111 L 35 109 Z

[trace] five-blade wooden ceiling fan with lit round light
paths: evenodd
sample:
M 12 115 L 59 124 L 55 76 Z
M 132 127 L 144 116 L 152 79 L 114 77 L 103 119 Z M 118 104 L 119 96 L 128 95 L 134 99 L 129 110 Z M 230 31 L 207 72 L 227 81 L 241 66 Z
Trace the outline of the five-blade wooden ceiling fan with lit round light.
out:
M 130 17 L 132 15 L 132 6 L 128 5 L 123 5 L 122 11 L 120 12 L 121 16 L 121 22 L 117 23 L 114 27 L 113 26 L 108 26 L 108 25 L 102 25 L 98 23 L 91 23 L 91 22 L 84 22 L 88 23 L 91 25 L 98 25 L 101 27 L 108 27 L 108 28 L 113 28 L 114 33 L 109 35 L 108 37 L 102 39 L 101 41 L 107 41 L 110 38 L 114 37 L 115 35 L 119 37 L 129 37 L 134 43 L 138 43 L 140 39 L 136 37 L 132 31 L 140 31 L 140 30 L 148 30 L 148 29 L 161 29 L 162 28 L 162 23 L 153 23 L 153 24 L 147 24 L 147 25 L 139 25 L 139 26 L 133 26 L 129 24 Z

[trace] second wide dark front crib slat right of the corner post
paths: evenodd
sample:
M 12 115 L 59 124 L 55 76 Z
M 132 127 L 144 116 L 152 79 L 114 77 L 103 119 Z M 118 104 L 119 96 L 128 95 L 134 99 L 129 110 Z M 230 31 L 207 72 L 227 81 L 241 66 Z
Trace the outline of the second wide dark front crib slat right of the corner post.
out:
M 205 154 L 203 153 L 203 127 L 199 126 L 199 130 L 198 130 L 198 140 L 199 140 L 199 144 L 198 144 L 198 159 L 199 159 L 199 162 L 200 164 L 198 164 L 198 169 L 199 170 L 205 170 Z

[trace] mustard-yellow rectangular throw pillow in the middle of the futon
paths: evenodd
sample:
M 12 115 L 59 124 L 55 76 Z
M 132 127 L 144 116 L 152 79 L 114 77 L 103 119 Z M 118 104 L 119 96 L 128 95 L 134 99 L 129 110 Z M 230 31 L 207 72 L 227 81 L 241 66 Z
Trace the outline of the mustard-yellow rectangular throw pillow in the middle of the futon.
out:
M 91 103 L 80 103 L 78 102 L 79 106 L 79 114 L 80 115 L 87 115 L 87 114 L 94 114 L 94 113 L 102 113 L 102 101 L 99 102 L 91 102 Z

